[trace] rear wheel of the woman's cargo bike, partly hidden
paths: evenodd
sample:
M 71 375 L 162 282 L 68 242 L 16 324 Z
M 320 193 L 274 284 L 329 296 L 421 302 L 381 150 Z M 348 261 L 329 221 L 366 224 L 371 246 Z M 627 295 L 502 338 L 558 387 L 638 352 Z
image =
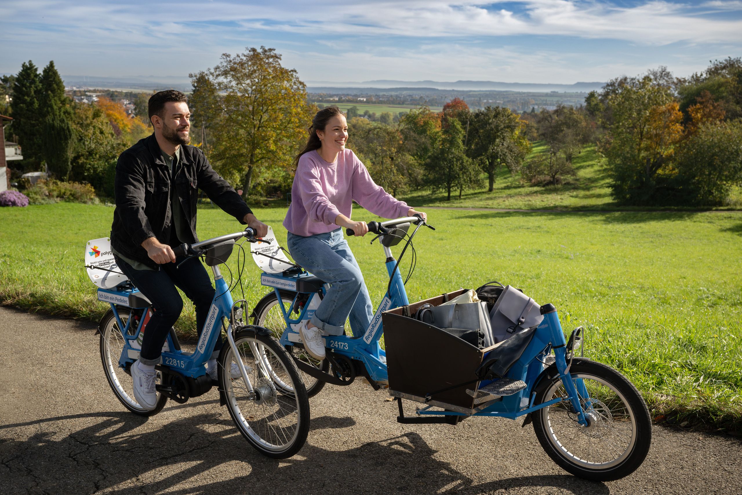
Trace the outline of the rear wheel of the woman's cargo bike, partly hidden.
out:
M 284 304 L 284 307 L 288 308 L 291 306 L 296 296 L 296 292 L 289 292 L 286 290 L 280 290 L 278 292 L 280 292 L 281 302 Z M 271 334 L 276 340 L 280 340 L 281 335 L 283 335 L 283 330 L 286 329 L 286 321 L 283 320 L 283 312 L 281 312 L 280 309 L 277 309 L 277 314 L 271 315 L 271 310 L 277 306 L 278 298 L 276 297 L 275 292 L 266 294 L 262 299 L 260 299 L 260 301 L 258 301 L 257 306 L 255 306 L 255 310 L 253 311 L 253 315 L 255 315 L 253 318 L 253 324 L 257 325 L 257 327 L 267 328 L 271 331 Z M 279 316 L 280 323 L 278 323 Z M 275 322 L 273 321 L 274 319 L 276 320 Z M 326 359 L 318 361 L 303 350 L 303 347 L 295 345 L 286 346 L 286 350 L 289 351 L 289 354 L 295 356 L 295 358 L 312 364 L 312 366 L 318 368 L 322 373 L 329 373 L 329 362 Z M 299 374 L 301 375 L 301 379 L 306 387 L 306 395 L 309 397 L 316 396 L 326 385 L 326 381 L 318 380 L 301 370 L 299 370 Z

